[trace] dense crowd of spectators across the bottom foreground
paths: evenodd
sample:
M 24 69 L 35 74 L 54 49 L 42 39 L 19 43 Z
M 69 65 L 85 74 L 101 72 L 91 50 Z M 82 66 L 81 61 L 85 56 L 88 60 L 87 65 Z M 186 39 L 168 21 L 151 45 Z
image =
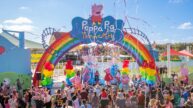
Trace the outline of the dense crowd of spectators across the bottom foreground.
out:
M 193 85 L 173 80 L 155 86 L 139 83 L 136 78 L 128 90 L 117 85 L 88 85 L 81 89 L 67 86 L 47 89 L 31 87 L 23 90 L 17 80 L 15 86 L 1 84 L 0 108 L 193 108 Z

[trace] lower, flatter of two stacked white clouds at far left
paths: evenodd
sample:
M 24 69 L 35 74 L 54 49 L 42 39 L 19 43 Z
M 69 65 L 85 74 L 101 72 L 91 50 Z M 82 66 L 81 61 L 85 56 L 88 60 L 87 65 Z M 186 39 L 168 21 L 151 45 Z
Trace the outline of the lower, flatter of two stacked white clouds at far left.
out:
M 9 26 L 5 26 L 4 28 L 7 30 L 31 32 L 35 27 L 32 25 L 9 25 Z

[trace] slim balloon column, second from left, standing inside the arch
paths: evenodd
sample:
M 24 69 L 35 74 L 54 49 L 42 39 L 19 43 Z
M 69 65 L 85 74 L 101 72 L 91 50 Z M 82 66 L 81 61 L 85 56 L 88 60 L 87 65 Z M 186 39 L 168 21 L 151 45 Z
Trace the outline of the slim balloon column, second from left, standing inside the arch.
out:
M 75 72 L 74 72 L 71 60 L 68 60 L 66 63 L 66 69 L 65 69 L 64 75 L 66 75 L 66 84 L 71 86 L 72 82 L 70 81 L 70 78 L 75 76 Z

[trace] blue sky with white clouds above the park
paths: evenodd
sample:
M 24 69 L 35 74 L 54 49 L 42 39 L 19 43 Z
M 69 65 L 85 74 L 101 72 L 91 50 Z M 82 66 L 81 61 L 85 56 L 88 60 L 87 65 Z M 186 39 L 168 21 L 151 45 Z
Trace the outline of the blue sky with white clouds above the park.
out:
M 193 0 L 1 0 L 0 28 L 29 31 L 37 35 L 27 39 L 41 42 L 44 28 L 70 31 L 73 17 L 88 18 L 94 3 L 103 4 L 103 16 L 127 16 L 151 41 L 193 42 Z

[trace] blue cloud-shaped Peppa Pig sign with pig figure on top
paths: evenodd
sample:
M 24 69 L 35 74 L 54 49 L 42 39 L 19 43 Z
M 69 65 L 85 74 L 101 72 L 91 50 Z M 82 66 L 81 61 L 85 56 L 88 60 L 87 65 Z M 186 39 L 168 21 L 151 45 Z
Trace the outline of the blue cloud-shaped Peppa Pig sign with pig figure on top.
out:
M 88 19 L 75 17 L 72 20 L 71 36 L 83 40 L 84 43 L 115 42 L 122 40 L 123 26 L 122 20 L 117 20 L 112 16 L 102 18 L 102 5 L 92 6 L 92 16 Z

